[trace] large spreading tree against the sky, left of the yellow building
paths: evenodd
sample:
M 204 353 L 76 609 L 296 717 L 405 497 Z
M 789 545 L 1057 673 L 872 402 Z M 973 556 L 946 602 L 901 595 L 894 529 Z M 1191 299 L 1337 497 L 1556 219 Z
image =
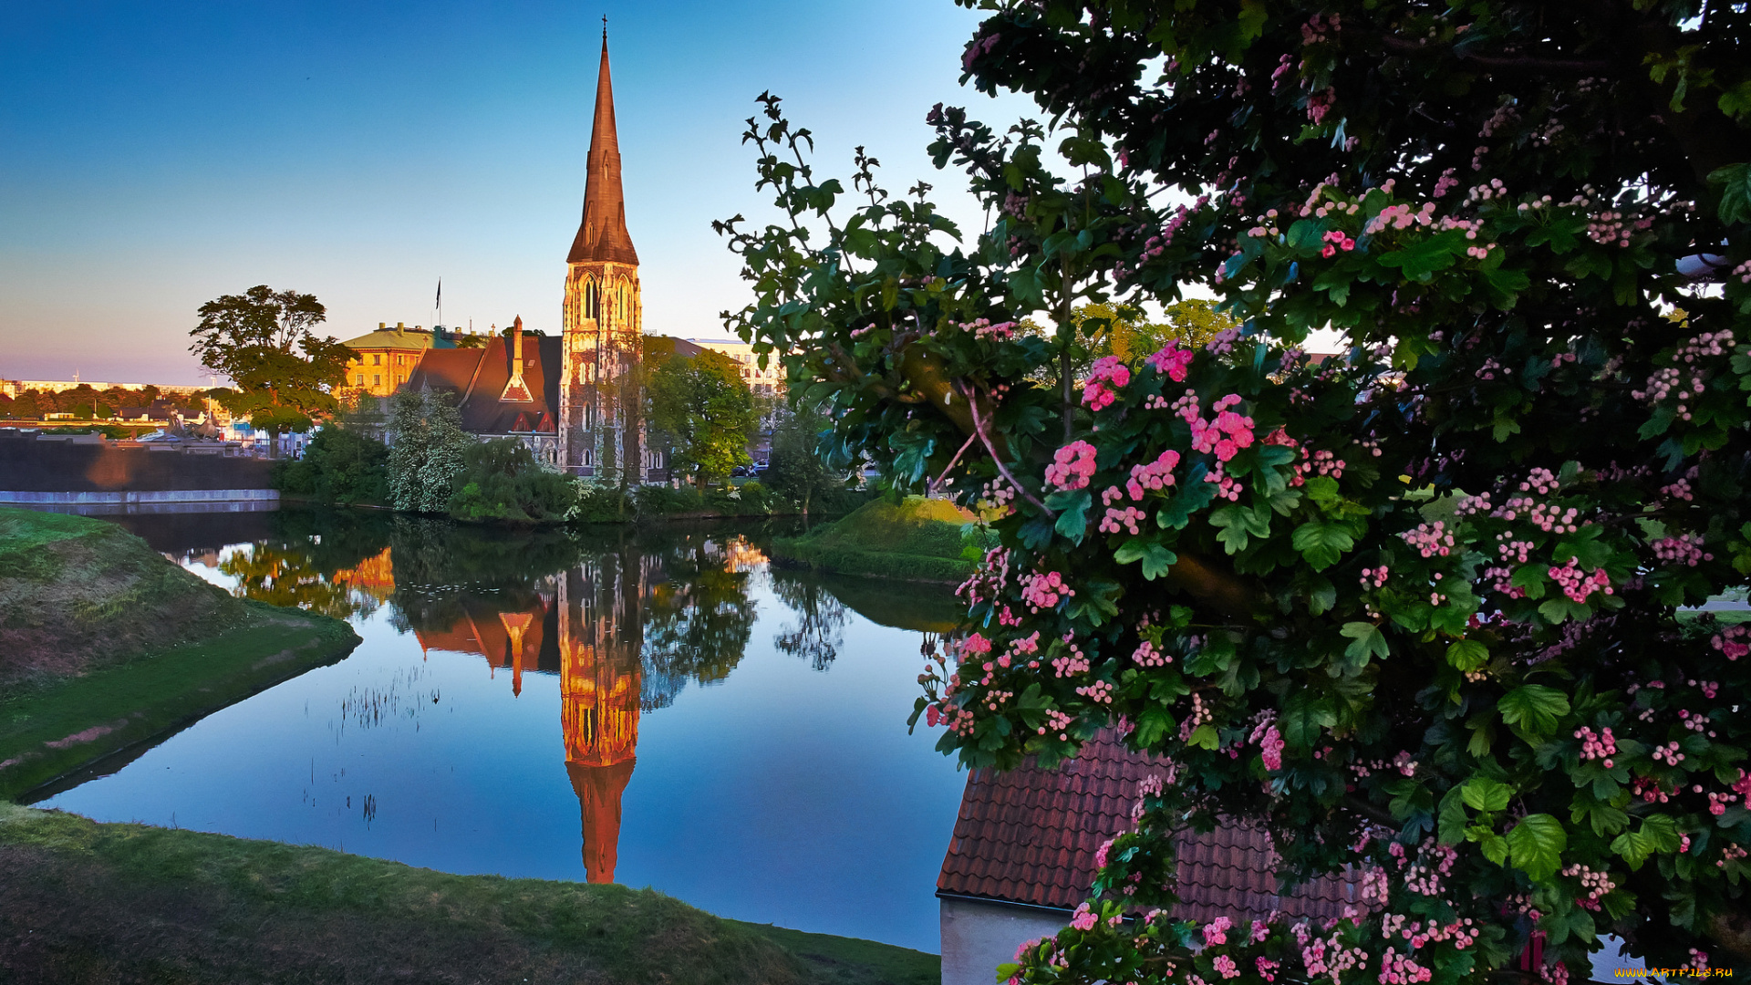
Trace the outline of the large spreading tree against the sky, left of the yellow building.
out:
M 189 351 L 201 366 L 231 377 L 236 389 L 224 398 L 226 410 L 268 431 L 270 447 L 278 447 L 282 431 L 306 431 L 313 415 L 338 408 L 333 391 L 345 384 L 355 352 L 315 335 L 327 317 L 315 294 L 261 284 L 207 301 L 200 315 Z

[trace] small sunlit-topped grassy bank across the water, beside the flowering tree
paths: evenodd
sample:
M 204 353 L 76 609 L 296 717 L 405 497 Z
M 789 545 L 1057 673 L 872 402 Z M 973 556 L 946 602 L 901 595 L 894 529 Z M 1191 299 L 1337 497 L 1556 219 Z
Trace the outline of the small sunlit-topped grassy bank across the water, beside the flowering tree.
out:
M 874 500 L 804 536 L 774 540 L 772 557 L 840 575 L 961 582 L 982 554 L 961 536 L 970 519 L 946 500 Z

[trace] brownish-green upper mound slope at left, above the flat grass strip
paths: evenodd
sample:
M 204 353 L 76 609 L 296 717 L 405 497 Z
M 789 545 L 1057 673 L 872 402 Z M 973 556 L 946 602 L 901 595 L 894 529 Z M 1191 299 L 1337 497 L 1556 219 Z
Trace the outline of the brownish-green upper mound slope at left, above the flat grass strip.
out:
M 0 696 L 210 636 L 243 613 L 116 524 L 0 508 Z

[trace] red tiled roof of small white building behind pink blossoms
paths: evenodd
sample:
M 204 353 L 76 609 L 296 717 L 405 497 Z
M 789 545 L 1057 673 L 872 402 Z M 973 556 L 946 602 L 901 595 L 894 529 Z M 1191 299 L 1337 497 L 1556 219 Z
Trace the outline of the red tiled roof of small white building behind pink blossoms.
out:
M 974 769 L 937 892 L 1075 908 L 1094 882 L 1094 852 L 1131 826 L 1136 782 L 1150 773 L 1163 768 L 1126 748 L 1110 729 L 1061 769 L 1031 761 L 1009 773 Z M 1247 824 L 1184 834 L 1175 889 L 1180 904 L 1173 913 L 1191 920 L 1257 918 L 1273 910 L 1338 917 L 1357 897 L 1355 885 L 1336 876 L 1278 896 L 1269 834 Z

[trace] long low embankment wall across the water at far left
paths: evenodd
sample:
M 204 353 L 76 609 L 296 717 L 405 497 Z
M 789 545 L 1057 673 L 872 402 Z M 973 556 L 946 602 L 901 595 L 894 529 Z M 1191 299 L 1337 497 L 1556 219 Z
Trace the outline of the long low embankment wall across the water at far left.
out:
M 271 463 L 222 454 L 221 445 L 147 447 L 81 438 L 0 436 L 0 503 L 121 508 L 238 503 L 259 508 L 280 498 L 270 482 Z

